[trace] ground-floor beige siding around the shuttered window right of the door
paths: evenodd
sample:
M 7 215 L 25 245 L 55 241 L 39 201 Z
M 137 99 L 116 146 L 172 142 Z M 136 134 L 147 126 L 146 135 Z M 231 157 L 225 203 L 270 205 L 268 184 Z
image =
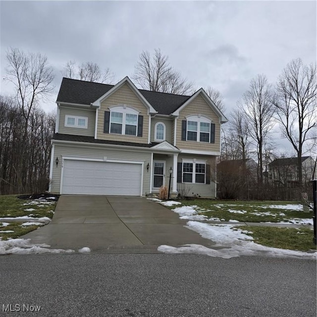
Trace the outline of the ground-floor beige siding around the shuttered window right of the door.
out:
M 182 162 L 182 159 L 197 159 L 197 160 L 206 160 L 206 164 L 209 164 L 211 167 L 211 177 L 210 184 L 195 184 L 195 183 L 182 183 L 177 184 L 177 190 L 181 191 L 181 188 L 185 186 L 186 196 L 193 197 L 199 195 L 202 198 L 215 198 L 215 162 L 216 157 L 206 156 L 206 155 L 185 155 L 179 154 L 177 162 Z

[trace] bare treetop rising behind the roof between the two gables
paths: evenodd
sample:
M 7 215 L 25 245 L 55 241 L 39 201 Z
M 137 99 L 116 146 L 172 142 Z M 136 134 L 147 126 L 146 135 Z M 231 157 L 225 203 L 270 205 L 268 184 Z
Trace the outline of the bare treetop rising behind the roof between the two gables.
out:
M 140 54 L 132 78 L 146 90 L 180 95 L 193 91 L 193 83 L 182 78 L 169 65 L 168 56 L 162 55 L 159 49 L 155 50 L 153 57 L 147 51 Z

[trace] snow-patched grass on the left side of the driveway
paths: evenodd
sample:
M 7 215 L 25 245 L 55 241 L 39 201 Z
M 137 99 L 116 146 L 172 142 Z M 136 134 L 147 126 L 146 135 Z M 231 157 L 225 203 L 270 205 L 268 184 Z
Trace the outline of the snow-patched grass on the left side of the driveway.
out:
M 0 218 L 20 216 L 52 218 L 56 203 L 53 199 L 19 199 L 17 195 L 2 195 L 0 196 Z M 40 225 L 23 226 L 23 222 L 10 222 L 6 219 L 2 221 L 9 224 L 3 225 L 3 222 L 0 222 L 0 240 L 18 238 L 40 227 Z

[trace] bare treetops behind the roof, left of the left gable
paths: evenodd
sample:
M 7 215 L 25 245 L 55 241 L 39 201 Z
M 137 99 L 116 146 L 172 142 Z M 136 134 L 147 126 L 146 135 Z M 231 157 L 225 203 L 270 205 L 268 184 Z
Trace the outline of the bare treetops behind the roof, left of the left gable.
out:
M 90 82 L 110 84 L 114 79 L 114 74 L 109 68 L 102 71 L 97 63 L 88 61 L 76 66 L 74 60 L 69 60 L 64 66 L 63 76 L 72 79 L 80 79 Z

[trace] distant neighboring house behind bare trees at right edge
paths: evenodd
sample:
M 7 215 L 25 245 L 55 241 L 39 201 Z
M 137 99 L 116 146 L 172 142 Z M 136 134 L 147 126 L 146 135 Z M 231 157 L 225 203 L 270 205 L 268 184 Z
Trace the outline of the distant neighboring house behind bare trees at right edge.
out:
M 303 182 L 313 178 L 315 160 L 302 157 Z M 298 182 L 297 158 L 274 159 L 268 165 L 268 179 L 276 184 L 290 184 Z

